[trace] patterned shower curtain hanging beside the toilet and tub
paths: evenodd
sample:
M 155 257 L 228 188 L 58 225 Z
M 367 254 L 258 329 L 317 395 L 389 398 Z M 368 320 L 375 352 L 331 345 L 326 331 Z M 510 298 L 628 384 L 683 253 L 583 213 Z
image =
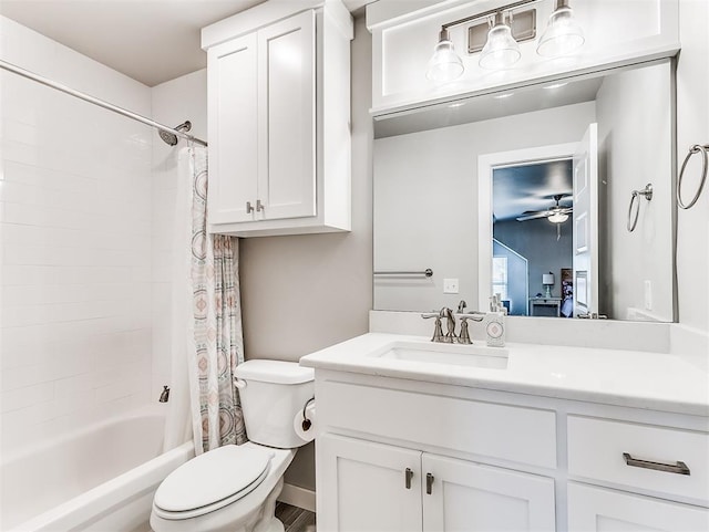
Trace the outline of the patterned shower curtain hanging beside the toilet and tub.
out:
M 179 419 L 191 419 L 195 453 L 201 455 L 247 440 L 234 387 L 234 369 L 244 362 L 238 239 L 207 233 L 206 149 L 183 148 L 178 166 L 172 302 L 174 411 L 168 416 L 165 447 L 181 442 L 176 440 L 184 438 L 188 427 L 181 426 Z

